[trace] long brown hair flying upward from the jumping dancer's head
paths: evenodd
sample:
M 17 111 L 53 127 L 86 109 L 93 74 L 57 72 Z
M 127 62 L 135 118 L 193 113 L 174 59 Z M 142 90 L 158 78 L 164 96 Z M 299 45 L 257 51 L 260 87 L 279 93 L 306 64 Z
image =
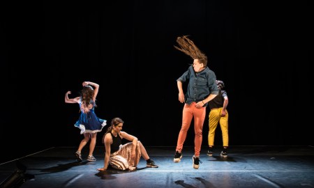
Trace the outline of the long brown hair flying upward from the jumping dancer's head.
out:
M 177 42 L 180 47 L 174 46 L 176 49 L 184 52 L 184 54 L 193 59 L 198 59 L 200 63 L 207 66 L 207 56 L 194 44 L 192 40 L 188 38 L 188 36 L 178 37 Z

